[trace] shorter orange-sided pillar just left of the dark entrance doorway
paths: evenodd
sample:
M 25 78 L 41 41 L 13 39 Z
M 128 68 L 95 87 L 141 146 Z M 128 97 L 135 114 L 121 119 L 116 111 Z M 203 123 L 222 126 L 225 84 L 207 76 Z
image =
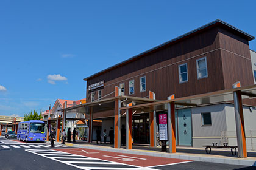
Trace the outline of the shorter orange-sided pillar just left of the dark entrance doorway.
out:
M 127 107 L 132 103 L 127 104 Z M 126 149 L 132 149 L 132 109 L 126 109 Z

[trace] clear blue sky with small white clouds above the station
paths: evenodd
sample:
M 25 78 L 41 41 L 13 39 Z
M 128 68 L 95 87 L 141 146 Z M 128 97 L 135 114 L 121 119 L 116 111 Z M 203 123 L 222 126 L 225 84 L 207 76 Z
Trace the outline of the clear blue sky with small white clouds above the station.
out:
M 85 98 L 83 78 L 215 19 L 256 36 L 256 1 L 0 1 L 0 115 Z M 256 40 L 249 42 L 256 50 Z

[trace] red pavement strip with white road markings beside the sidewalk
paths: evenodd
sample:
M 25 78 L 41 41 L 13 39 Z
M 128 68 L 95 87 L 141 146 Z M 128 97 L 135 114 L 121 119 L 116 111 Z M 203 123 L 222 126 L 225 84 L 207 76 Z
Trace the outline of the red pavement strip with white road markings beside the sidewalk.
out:
M 85 148 L 65 148 L 65 149 L 54 149 L 54 150 L 68 152 L 76 155 L 83 155 L 85 157 L 90 157 L 90 158 L 98 158 L 101 160 L 124 163 L 127 165 L 141 166 L 141 167 L 154 167 L 154 166 L 163 166 L 163 165 L 172 165 L 172 164 L 191 162 L 188 160 L 180 160 L 175 158 L 123 154 L 118 152 L 98 151 L 94 149 L 85 149 Z

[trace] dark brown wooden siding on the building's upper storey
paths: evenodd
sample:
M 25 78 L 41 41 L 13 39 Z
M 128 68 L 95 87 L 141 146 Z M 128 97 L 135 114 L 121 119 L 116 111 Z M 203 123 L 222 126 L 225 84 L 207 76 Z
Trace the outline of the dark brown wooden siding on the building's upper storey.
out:
M 177 44 L 149 53 L 132 63 L 87 80 L 87 101 L 91 101 L 88 85 L 101 80 L 105 81 L 102 97 L 113 92 L 114 87 L 119 86 L 120 83 L 125 83 L 125 95 L 129 95 L 129 80 L 135 80 L 135 94 L 132 96 L 146 97 L 151 90 L 155 92 L 156 98 L 161 100 L 165 100 L 171 94 L 179 98 L 230 89 L 230 84 L 232 85 L 236 80 L 240 80 L 242 86 L 253 84 L 251 63 L 249 64 L 251 61 L 248 60 L 249 58 L 242 58 L 242 60 L 233 53 L 250 58 L 248 42 L 219 27 L 213 27 L 199 35 L 191 36 Z M 198 80 L 196 60 L 202 57 L 207 58 L 208 77 Z M 239 66 L 242 71 L 234 70 L 230 62 Z M 178 66 L 183 63 L 187 63 L 188 66 L 187 83 L 179 83 Z M 244 76 L 246 74 L 251 75 L 246 77 Z M 140 77 L 145 75 L 146 92 L 140 92 Z M 96 99 L 97 95 L 96 92 Z M 113 96 L 114 94 L 108 95 L 108 97 Z

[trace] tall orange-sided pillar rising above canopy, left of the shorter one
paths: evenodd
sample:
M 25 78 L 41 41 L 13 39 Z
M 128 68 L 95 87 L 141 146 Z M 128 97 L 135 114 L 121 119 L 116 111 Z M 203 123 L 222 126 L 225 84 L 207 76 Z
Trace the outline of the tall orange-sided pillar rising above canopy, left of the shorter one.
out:
M 118 86 L 115 86 L 115 97 L 121 95 L 121 89 Z M 121 131 L 120 131 L 120 99 L 115 99 L 115 137 L 114 137 L 114 148 L 121 147 Z

